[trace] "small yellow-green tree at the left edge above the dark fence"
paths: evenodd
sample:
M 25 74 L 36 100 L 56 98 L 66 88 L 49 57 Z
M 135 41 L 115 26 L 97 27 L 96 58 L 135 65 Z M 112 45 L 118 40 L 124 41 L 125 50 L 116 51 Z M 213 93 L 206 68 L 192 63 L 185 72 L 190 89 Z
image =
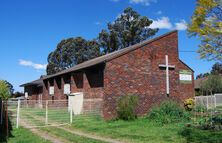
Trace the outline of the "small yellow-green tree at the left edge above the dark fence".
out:
M 10 89 L 7 83 L 3 80 L 0 80 L 0 98 L 3 100 L 8 100 L 10 97 Z

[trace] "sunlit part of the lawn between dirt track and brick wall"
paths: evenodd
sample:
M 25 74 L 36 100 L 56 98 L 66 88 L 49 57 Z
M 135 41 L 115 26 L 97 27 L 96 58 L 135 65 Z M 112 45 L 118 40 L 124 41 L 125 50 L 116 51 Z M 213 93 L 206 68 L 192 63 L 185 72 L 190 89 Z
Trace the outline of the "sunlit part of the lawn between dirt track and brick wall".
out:
M 99 118 L 76 118 L 72 125 L 75 129 L 135 143 L 185 142 L 186 139 L 178 134 L 183 127 L 184 123 L 160 126 L 145 118 L 108 122 Z

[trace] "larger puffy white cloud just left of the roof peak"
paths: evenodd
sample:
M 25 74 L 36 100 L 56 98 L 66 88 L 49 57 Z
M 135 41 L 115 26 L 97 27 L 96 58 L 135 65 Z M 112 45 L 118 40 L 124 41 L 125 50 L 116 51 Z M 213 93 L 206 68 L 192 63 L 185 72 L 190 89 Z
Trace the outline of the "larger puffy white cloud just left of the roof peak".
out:
M 153 23 L 150 25 L 150 28 L 172 29 L 173 26 L 168 17 L 161 17 L 160 19 L 153 20 Z

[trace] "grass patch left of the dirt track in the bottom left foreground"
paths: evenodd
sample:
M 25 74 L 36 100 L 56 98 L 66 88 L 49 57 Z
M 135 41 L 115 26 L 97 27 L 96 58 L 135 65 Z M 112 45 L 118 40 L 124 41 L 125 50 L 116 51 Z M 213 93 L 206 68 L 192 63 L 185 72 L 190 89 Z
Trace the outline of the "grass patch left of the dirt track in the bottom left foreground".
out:
M 50 141 L 44 140 L 29 130 L 20 127 L 12 130 L 12 136 L 9 137 L 8 143 L 50 143 Z

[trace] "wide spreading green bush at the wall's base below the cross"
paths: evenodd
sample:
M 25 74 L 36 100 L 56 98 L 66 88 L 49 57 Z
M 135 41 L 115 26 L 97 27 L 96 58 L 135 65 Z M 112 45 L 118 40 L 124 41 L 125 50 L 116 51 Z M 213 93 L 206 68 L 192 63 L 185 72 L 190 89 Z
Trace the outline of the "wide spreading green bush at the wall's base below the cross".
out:
M 174 101 L 164 101 L 159 106 L 154 106 L 148 114 L 148 118 L 159 123 L 169 124 L 189 120 L 189 113 L 186 112 Z

